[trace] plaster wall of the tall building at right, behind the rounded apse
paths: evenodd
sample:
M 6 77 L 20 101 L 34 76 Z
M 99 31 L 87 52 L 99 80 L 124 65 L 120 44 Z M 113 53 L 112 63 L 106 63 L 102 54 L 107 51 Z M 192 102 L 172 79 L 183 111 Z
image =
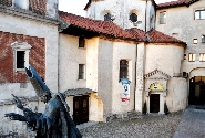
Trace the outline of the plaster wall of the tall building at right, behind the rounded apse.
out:
M 195 10 L 202 10 L 205 8 L 205 1 L 199 0 L 192 3 L 189 7 L 178 7 L 157 10 L 156 12 L 156 30 L 162 31 L 168 35 L 173 35 L 187 43 L 185 51 L 186 60 L 183 62 L 182 72 L 189 73 L 193 68 L 205 67 L 199 62 L 199 53 L 205 53 L 205 43 L 202 43 L 202 34 L 204 34 L 205 21 L 194 20 Z M 160 24 L 160 12 L 166 11 L 166 24 Z M 193 39 L 198 40 L 198 44 L 193 44 Z M 188 53 L 196 54 L 195 62 L 188 62 Z

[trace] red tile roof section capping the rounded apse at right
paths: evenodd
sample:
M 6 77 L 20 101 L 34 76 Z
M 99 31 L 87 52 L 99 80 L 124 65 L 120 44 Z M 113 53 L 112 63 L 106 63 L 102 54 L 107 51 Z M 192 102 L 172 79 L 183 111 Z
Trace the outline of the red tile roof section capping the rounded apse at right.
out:
M 166 35 L 162 32 L 158 32 L 154 29 L 152 29 L 151 31 L 148 31 L 146 33 L 146 39 L 148 42 L 162 42 L 162 43 L 184 43 L 186 44 L 185 42 L 181 41 L 181 40 L 177 40 L 173 36 L 170 36 L 170 35 Z

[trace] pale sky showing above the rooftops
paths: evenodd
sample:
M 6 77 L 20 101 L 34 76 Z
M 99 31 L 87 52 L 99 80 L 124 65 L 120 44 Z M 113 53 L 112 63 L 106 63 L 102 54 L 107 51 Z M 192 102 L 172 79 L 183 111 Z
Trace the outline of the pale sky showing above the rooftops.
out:
M 59 9 L 61 11 L 66 11 L 69 13 L 74 13 L 78 15 L 85 15 L 85 11 L 83 10 L 89 0 L 59 0 Z M 166 1 L 175 1 L 175 0 L 155 0 L 156 3 L 163 3 Z

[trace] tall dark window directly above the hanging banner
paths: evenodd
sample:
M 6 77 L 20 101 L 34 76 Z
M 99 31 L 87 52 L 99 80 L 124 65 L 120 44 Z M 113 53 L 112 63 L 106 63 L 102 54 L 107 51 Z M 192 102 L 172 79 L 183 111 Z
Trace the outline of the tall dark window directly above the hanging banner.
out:
M 129 77 L 129 61 L 121 60 L 120 61 L 120 78 Z

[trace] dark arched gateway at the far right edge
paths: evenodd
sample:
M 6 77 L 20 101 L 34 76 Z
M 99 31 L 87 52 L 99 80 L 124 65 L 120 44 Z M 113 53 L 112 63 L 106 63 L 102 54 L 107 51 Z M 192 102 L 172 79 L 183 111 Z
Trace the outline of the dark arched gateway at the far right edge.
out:
M 205 104 L 205 76 L 195 76 L 191 78 L 188 104 Z

